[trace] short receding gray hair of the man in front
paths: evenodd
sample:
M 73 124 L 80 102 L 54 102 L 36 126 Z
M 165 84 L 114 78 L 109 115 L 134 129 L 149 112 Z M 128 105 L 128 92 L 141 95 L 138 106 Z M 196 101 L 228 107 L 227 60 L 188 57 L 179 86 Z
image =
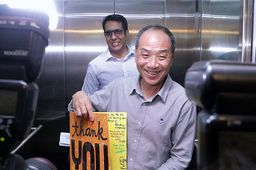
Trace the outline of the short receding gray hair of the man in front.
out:
M 135 39 L 135 48 L 136 49 L 138 49 L 140 36 L 142 35 L 142 33 L 144 33 L 147 30 L 162 30 L 162 31 L 164 31 L 164 33 L 166 33 L 170 37 L 171 45 L 172 45 L 172 53 L 174 53 L 174 50 L 176 49 L 175 37 L 173 36 L 173 34 L 171 33 L 171 31 L 169 29 L 165 28 L 164 26 L 158 25 L 158 24 L 145 26 L 144 28 L 142 28 L 139 31 L 139 33 L 137 34 L 136 39 Z

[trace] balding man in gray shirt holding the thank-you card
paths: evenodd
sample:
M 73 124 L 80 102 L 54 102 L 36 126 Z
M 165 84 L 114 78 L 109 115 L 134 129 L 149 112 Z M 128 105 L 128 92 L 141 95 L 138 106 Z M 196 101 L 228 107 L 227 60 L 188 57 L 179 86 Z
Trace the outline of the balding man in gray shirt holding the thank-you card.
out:
M 196 137 L 196 105 L 174 82 L 175 38 L 160 25 L 140 30 L 135 42 L 139 76 L 119 78 L 102 90 L 73 97 L 75 115 L 94 120 L 92 111 L 127 112 L 127 169 L 186 169 Z

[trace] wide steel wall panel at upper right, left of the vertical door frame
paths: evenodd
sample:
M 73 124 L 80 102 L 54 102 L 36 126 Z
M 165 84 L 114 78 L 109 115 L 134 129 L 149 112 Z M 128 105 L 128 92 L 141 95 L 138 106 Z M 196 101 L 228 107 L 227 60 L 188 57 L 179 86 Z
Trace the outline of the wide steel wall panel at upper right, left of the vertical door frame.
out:
M 202 1 L 202 60 L 238 60 L 239 0 Z

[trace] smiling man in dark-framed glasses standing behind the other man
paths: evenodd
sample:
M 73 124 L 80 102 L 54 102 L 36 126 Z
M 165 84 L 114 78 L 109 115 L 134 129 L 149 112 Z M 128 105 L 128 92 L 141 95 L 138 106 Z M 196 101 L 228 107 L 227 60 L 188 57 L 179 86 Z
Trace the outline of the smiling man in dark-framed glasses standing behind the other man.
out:
M 93 94 L 116 78 L 139 75 L 134 62 L 134 49 L 126 44 L 128 24 L 122 15 L 106 16 L 102 27 L 108 49 L 88 64 L 82 91 Z M 72 100 L 68 110 L 73 111 Z

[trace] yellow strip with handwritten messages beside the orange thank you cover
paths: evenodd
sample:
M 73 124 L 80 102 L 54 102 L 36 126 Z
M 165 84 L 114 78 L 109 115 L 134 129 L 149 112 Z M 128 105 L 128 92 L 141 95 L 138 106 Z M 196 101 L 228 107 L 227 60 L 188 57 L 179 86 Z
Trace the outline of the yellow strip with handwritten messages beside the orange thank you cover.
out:
M 126 169 L 126 125 L 126 112 L 108 112 L 111 170 Z

